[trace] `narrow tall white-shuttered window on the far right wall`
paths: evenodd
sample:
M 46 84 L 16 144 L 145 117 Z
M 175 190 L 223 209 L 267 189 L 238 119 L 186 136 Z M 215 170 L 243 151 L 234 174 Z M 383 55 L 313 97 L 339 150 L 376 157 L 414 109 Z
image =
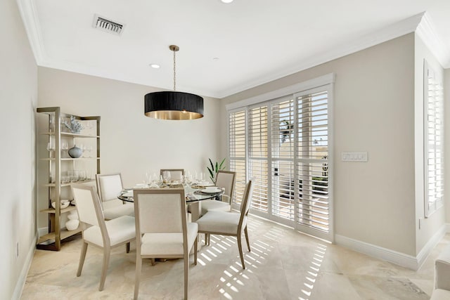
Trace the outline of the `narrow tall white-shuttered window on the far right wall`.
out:
M 444 92 L 436 72 L 424 63 L 425 216 L 443 205 Z

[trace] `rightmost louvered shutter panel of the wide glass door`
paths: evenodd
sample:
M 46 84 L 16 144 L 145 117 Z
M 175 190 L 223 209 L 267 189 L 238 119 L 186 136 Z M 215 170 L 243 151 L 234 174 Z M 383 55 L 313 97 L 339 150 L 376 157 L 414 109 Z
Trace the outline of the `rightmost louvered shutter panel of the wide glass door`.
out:
M 298 94 L 297 223 L 328 233 L 328 91 Z

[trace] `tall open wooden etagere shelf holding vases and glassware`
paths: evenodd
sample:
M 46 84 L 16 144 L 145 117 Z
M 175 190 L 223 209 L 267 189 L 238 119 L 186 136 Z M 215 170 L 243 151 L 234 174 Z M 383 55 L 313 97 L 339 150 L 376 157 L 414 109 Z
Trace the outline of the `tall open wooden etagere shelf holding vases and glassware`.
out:
M 46 188 L 46 202 L 48 205 L 46 209 L 41 209 L 41 213 L 45 213 L 48 216 L 47 234 L 41 235 L 37 242 L 37 249 L 46 249 L 59 251 L 61 248 L 61 242 L 68 237 L 76 235 L 81 232 L 81 224 L 76 230 L 67 230 L 63 227 L 62 221 L 66 214 L 76 209 L 75 206 L 70 205 L 64 209 L 60 208 L 60 200 L 63 195 L 70 194 L 70 183 L 62 183 L 63 169 L 75 170 L 77 164 L 82 162 L 83 164 L 91 164 L 93 173 L 100 173 L 100 117 L 79 117 L 76 115 L 67 115 L 60 111 L 60 107 L 39 107 L 37 112 L 48 116 L 48 124 L 46 128 L 41 128 L 39 138 L 44 139 L 47 143 L 54 143 L 54 150 L 47 151 L 46 155 L 39 155 L 40 163 L 48 164 L 48 172 L 46 172 L 46 178 L 41 178 L 39 181 L 40 186 Z M 94 122 L 94 132 L 84 133 L 71 133 L 63 131 L 61 126 L 63 119 L 70 119 L 70 116 L 74 116 L 78 122 Z M 80 139 L 95 144 L 96 155 L 94 157 L 63 157 L 62 153 L 67 149 L 62 149 L 62 143 L 75 144 L 75 139 Z M 52 155 L 53 153 L 53 155 Z M 77 181 L 77 183 L 92 183 L 95 181 L 95 174 L 91 174 L 90 178 L 83 181 Z M 44 176 L 42 176 L 44 177 Z M 39 199 L 38 199 L 39 200 Z M 55 208 L 51 207 L 51 202 L 55 203 Z M 39 202 L 41 203 L 41 202 Z

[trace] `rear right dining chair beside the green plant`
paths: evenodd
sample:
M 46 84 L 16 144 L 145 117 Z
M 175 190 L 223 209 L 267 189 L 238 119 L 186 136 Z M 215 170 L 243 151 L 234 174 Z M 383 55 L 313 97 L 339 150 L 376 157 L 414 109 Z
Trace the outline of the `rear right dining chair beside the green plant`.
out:
M 221 195 L 221 201 L 205 200 L 202 201 L 202 212 L 206 214 L 207 211 L 231 211 L 231 200 L 233 200 L 234 185 L 236 181 L 236 172 L 233 171 L 218 171 L 216 177 L 216 186 L 224 188 L 224 194 Z

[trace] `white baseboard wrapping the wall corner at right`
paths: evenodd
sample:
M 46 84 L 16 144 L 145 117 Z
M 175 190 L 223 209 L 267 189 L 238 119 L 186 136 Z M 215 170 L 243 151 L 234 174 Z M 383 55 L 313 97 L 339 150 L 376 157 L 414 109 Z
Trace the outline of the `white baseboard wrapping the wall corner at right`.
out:
M 373 256 L 376 259 L 383 259 L 385 261 L 395 263 L 399 266 L 410 268 L 411 270 L 418 270 L 420 266 L 422 266 L 422 264 L 425 262 L 428 254 L 430 254 L 439 240 L 442 239 L 446 232 L 449 232 L 449 225 L 450 224 L 446 224 L 442 226 L 442 228 L 439 229 L 435 235 L 433 235 L 433 237 L 427 242 L 427 244 L 425 244 L 425 247 L 420 250 L 417 256 L 411 256 L 409 254 L 404 254 L 391 249 L 379 247 L 374 244 L 368 244 L 359 240 L 353 240 L 352 238 L 342 235 L 335 235 L 335 243 L 343 247 L 352 249 L 356 252 L 361 252 L 369 256 Z

